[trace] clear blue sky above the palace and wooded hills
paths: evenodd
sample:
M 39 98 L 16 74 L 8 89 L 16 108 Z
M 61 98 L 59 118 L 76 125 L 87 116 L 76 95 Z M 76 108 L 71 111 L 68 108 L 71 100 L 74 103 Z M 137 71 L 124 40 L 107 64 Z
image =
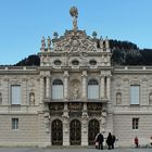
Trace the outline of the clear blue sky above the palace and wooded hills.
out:
M 152 48 L 152 0 L 0 0 L 0 64 L 37 54 L 42 36 L 72 29 L 73 5 L 88 35 Z

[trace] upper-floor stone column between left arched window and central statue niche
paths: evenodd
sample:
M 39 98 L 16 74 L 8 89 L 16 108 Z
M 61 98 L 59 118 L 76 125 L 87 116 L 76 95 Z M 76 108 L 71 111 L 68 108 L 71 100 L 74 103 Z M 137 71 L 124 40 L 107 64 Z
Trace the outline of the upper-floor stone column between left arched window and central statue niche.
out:
M 64 100 L 68 99 L 68 71 L 64 71 Z

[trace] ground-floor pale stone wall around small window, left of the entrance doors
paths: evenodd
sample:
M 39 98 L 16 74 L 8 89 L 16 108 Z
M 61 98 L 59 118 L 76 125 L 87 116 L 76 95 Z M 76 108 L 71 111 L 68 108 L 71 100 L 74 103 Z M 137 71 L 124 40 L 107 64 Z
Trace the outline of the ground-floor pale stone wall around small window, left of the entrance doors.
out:
M 12 118 L 18 118 L 18 129 L 12 129 Z M 36 114 L 0 114 L 0 145 L 36 147 L 38 117 Z

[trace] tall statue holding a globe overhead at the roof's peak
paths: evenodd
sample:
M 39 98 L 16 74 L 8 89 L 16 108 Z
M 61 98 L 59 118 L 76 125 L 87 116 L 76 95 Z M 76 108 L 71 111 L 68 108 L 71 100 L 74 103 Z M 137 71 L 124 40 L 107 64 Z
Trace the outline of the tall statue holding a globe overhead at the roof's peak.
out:
M 69 14 L 72 15 L 73 17 L 73 28 L 74 30 L 77 30 L 77 17 L 78 17 L 78 10 L 76 7 L 72 7 L 71 10 L 69 10 Z

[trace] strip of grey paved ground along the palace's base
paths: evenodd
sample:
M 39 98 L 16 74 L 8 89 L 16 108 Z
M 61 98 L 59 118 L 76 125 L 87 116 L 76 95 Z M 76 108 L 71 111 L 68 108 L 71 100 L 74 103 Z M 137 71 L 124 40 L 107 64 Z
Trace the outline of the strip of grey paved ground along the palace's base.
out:
M 63 148 L 63 149 L 37 149 L 37 148 L 0 148 L 0 152 L 99 152 L 91 148 Z M 152 149 L 115 149 L 102 150 L 103 152 L 152 152 Z

